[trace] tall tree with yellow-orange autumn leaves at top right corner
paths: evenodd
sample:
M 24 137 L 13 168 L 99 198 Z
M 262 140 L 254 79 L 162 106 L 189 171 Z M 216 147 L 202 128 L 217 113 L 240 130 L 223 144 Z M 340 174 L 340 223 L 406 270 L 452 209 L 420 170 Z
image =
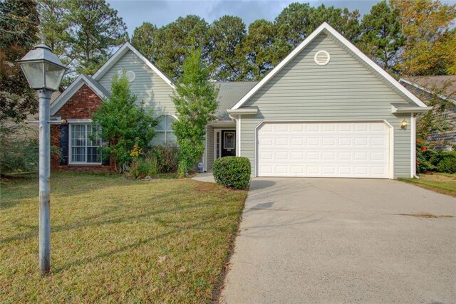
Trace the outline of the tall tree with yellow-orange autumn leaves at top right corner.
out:
M 400 72 L 406 75 L 451 73 L 454 66 L 456 5 L 439 0 L 390 0 L 400 11 L 400 23 L 407 41 Z

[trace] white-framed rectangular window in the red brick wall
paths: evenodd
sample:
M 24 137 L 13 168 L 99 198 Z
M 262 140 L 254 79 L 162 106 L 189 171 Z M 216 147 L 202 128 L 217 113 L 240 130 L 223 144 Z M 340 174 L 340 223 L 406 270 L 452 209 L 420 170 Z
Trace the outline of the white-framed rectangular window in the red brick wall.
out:
M 98 136 L 99 125 L 72 124 L 70 125 L 70 163 L 71 164 L 101 164 L 103 145 Z

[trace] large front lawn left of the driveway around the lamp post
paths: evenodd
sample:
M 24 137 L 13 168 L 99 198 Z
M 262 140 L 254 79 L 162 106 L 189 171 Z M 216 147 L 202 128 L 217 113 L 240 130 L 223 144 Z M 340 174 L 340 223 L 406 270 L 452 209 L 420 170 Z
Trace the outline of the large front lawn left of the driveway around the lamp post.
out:
M 0 303 L 209 303 L 247 196 L 192 179 L 52 174 L 41 277 L 37 180 L 0 187 Z

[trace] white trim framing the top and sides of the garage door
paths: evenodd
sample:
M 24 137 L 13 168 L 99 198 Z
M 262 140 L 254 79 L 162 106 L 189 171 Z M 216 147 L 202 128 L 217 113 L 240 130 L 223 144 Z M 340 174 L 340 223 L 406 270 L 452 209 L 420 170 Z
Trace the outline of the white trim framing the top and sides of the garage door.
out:
M 261 120 L 259 124 L 255 127 L 254 142 L 255 142 L 255 152 L 254 152 L 254 162 L 255 162 L 255 171 L 254 177 L 258 177 L 258 130 L 261 125 L 267 122 L 383 122 L 389 127 L 389 152 L 388 152 L 388 179 L 394 179 L 394 127 L 386 120 Z

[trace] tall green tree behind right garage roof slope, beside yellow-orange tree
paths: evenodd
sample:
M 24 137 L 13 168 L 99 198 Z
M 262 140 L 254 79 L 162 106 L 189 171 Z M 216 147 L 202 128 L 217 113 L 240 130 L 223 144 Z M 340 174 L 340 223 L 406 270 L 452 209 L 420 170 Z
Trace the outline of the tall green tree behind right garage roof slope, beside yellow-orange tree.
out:
M 362 36 L 358 46 L 384 70 L 393 71 L 405 44 L 399 21 L 400 11 L 391 9 L 385 0 L 372 6 L 361 22 Z

